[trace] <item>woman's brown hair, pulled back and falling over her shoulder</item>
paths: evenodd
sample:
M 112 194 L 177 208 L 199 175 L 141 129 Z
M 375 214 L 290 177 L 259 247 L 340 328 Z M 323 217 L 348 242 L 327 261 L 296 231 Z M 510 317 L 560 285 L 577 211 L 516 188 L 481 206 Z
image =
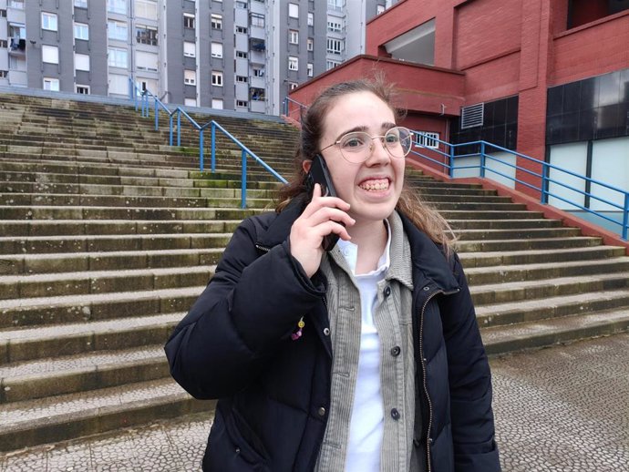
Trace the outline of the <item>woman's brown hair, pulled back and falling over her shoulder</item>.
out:
M 280 203 L 277 205 L 276 211 L 284 210 L 291 200 L 306 192 L 304 187 L 305 172 L 302 164 L 304 160 L 313 159 L 314 155 L 319 152 L 320 141 L 324 134 L 325 115 L 339 97 L 356 92 L 371 92 L 380 98 L 393 110 L 396 122 L 405 116 L 402 108 L 393 105 L 393 86 L 387 85 L 383 77 L 376 77 L 375 80 L 361 79 L 342 82 L 326 88 L 314 99 L 313 104 L 302 117 L 301 136 L 294 156 L 294 175 L 280 190 Z M 432 241 L 442 244 L 446 250 L 449 250 L 455 237 L 448 222 L 437 210 L 421 200 L 417 191 L 410 190 L 406 183 L 396 208 L 421 231 L 424 231 Z

